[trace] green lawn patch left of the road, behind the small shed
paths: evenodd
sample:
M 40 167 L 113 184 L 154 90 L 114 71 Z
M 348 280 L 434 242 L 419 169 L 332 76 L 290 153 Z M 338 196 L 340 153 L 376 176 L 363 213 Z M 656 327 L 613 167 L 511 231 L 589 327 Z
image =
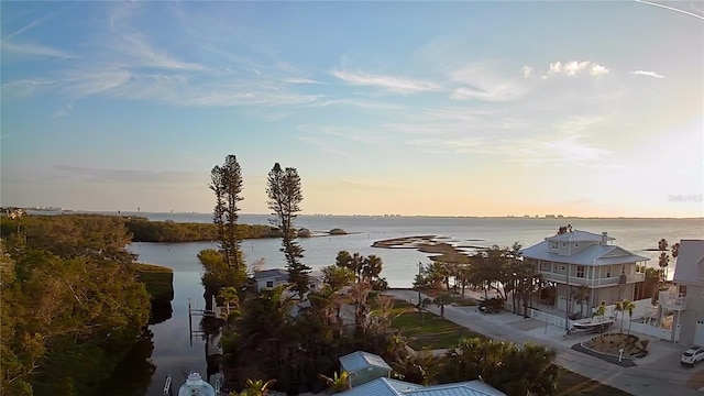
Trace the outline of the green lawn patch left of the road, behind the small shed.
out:
M 468 337 L 485 338 L 431 312 L 424 311 L 421 317 L 418 310 L 406 301 L 395 301 L 392 318 L 392 327 L 406 336 L 408 345 L 416 351 L 424 348 L 452 348 L 460 339 Z

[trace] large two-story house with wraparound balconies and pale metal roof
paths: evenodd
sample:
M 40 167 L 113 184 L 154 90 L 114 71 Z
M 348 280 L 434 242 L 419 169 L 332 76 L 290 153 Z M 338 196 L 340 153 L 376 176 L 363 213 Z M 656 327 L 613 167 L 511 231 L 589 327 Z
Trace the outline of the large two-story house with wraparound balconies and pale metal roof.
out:
M 614 238 L 586 231 L 571 231 L 521 250 L 542 279 L 556 286 L 554 307 L 580 311 L 579 304 L 594 308 L 606 301 L 634 299 L 635 286 L 645 280 L 645 263 L 650 260 L 613 244 Z M 588 289 L 583 301 L 575 298 L 580 286 Z M 569 302 L 571 301 L 571 304 Z M 590 310 L 586 310 L 587 312 Z

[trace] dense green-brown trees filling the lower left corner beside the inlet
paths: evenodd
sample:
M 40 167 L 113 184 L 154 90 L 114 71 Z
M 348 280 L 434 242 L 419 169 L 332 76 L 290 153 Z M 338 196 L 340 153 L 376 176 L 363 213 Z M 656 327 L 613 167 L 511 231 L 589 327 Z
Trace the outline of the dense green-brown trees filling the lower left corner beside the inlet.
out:
M 51 219 L 48 219 L 51 218 Z M 4 220 L 4 219 L 3 219 Z M 3 395 L 100 394 L 143 332 L 150 296 L 119 217 L 22 216 L 0 242 Z M 150 378 L 141 378 L 146 392 Z

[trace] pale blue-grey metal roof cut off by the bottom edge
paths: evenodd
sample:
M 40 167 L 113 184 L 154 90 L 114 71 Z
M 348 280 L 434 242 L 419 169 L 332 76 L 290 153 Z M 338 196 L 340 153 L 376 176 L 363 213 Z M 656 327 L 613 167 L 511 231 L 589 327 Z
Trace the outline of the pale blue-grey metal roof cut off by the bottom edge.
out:
M 386 377 L 343 392 L 344 396 L 506 396 L 494 387 L 476 380 L 470 382 L 422 386 Z

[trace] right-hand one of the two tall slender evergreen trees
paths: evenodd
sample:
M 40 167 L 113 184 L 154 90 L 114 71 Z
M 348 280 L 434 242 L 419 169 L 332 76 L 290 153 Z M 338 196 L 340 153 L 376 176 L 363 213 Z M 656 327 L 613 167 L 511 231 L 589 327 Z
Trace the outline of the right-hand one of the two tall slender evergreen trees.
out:
M 282 252 L 286 257 L 288 280 L 293 284 L 292 289 L 302 298 L 309 288 L 310 267 L 301 262 L 304 249 L 296 242 L 294 229 L 294 221 L 304 200 L 298 170 L 293 167 L 283 169 L 278 163 L 274 164 L 266 180 L 266 204 L 275 216 L 270 221 L 282 231 Z

